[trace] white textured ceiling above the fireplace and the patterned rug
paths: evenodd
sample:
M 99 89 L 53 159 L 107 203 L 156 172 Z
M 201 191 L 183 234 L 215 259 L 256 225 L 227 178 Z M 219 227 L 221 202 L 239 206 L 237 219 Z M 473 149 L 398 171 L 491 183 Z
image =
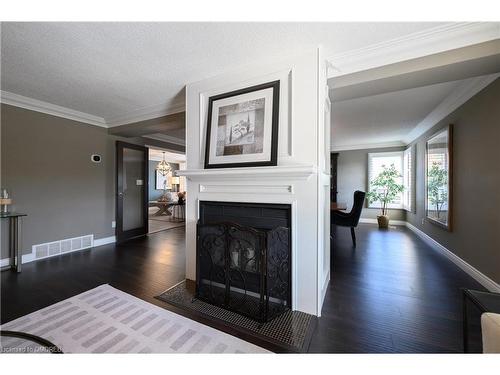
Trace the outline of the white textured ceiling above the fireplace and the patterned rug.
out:
M 439 25 L 4 22 L 1 89 L 116 125 L 179 111 L 186 83 L 250 61 L 318 45 L 332 56 Z

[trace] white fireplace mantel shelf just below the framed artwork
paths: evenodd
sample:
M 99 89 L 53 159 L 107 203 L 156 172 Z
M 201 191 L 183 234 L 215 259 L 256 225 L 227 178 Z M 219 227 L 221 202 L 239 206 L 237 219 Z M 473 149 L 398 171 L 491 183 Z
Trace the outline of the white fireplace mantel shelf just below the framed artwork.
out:
M 288 179 L 307 180 L 316 173 L 314 165 L 281 165 L 276 167 L 184 169 L 176 171 L 178 176 L 195 180 L 240 180 L 240 179 Z

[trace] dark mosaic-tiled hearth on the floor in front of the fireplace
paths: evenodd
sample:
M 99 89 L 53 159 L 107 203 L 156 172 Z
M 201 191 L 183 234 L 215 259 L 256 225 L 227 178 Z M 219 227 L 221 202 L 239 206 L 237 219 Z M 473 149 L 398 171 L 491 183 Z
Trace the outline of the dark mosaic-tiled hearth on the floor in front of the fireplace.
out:
M 306 352 L 316 326 L 316 317 L 300 312 L 287 311 L 267 323 L 259 323 L 240 314 L 228 311 L 194 298 L 193 282 L 183 281 L 156 298 L 176 307 L 201 314 L 212 321 L 248 334 L 259 342 L 267 342 L 281 351 Z M 246 338 L 246 337 L 245 337 Z

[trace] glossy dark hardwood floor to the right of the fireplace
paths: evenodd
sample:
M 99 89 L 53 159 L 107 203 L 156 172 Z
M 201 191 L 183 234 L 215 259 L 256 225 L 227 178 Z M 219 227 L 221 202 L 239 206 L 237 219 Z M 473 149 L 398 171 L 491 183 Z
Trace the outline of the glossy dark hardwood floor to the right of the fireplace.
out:
M 337 228 L 333 272 L 309 351 L 462 351 L 460 288 L 484 288 L 405 227 Z

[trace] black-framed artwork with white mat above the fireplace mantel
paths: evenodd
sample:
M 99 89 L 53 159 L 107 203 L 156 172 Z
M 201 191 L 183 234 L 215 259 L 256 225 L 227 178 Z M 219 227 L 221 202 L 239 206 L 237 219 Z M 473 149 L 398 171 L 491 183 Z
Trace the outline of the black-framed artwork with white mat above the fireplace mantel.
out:
M 277 165 L 280 82 L 208 100 L 205 168 Z

